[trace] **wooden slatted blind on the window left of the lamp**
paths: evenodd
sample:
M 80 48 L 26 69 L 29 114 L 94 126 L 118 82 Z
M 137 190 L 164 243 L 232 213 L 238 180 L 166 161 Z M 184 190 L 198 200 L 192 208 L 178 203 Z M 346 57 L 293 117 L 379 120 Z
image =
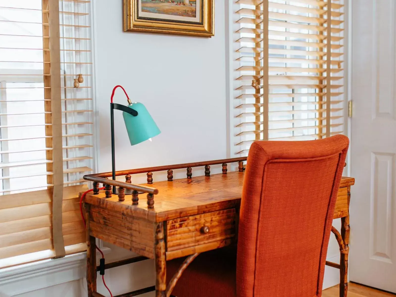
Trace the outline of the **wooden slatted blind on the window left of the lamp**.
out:
M 0 267 L 86 249 L 89 13 L 87 0 L 0 0 Z

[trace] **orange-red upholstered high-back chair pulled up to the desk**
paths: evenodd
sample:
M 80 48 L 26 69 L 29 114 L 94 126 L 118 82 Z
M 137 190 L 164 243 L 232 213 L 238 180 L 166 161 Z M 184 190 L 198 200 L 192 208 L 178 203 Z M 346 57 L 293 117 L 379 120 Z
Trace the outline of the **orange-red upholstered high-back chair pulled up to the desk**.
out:
M 253 143 L 237 248 L 199 255 L 172 295 L 320 297 L 348 143 L 343 135 Z M 182 261 L 168 262 L 168 280 Z

